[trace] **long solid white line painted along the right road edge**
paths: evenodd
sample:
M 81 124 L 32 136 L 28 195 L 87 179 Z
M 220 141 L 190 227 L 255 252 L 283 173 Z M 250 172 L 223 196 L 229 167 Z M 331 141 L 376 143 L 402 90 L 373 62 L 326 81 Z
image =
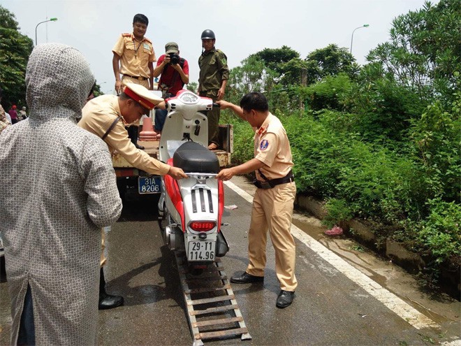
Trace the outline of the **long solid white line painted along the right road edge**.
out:
M 226 181 L 224 184 L 237 192 L 237 194 L 242 196 L 243 199 L 249 201 L 249 203 L 253 202 L 253 197 L 247 192 L 244 192 L 244 190 L 240 189 L 240 187 L 237 187 L 237 185 L 233 184 L 233 182 Z M 343 273 L 346 277 L 349 277 L 350 280 L 365 289 L 368 294 L 374 296 L 374 298 L 386 305 L 388 309 L 395 312 L 395 314 L 399 315 L 402 319 L 411 324 L 411 326 L 414 326 L 416 329 L 430 327 L 439 328 L 439 325 L 432 321 L 432 319 L 426 317 L 401 298 L 395 296 L 395 294 L 382 287 L 379 283 L 370 279 L 367 275 L 351 266 L 351 264 L 347 263 L 344 259 L 335 254 L 335 252 L 328 250 L 314 238 L 298 229 L 297 226 L 291 225 L 291 233 L 295 238 L 300 240 L 300 242 L 307 245 L 307 247 L 309 247 L 312 251 L 316 252 L 316 254 L 325 259 L 325 261 L 327 261 L 330 265 L 334 266 L 339 272 Z

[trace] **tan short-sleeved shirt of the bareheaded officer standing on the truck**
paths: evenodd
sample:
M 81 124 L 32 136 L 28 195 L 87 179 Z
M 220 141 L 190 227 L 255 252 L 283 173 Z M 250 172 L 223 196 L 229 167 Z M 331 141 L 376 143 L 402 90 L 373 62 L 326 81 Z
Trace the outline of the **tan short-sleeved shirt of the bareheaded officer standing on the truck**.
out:
M 122 34 L 112 52 L 120 57 L 120 73 L 136 77 L 150 77 L 149 62 L 156 62 L 154 47 L 148 38 L 136 41 L 133 34 Z

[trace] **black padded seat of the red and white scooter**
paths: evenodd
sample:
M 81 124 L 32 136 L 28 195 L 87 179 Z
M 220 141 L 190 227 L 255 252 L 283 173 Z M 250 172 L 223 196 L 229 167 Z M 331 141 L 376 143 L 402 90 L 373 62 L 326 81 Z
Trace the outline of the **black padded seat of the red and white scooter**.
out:
M 214 152 L 203 145 L 188 141 L 173 154 L 173 166 L 186 173 L 219 173 L 219 160 Z

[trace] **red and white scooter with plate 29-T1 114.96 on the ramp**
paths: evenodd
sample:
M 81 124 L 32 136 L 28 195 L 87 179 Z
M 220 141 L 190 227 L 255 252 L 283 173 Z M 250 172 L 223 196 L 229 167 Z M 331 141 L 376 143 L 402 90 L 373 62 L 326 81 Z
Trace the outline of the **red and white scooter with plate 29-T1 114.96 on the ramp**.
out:
M 200 270 L 228 252 L 221 231 L 224 185 L 215 176 L 219 161 L 207 149 L 207 117 L 212 99 L 188 90 L 166 100 L 168 115 L 159 143 L 159 159 L 180 167 L 189 178 L 162 177 L 159 226 L 170 250 L 184 252 L 189 268 Z

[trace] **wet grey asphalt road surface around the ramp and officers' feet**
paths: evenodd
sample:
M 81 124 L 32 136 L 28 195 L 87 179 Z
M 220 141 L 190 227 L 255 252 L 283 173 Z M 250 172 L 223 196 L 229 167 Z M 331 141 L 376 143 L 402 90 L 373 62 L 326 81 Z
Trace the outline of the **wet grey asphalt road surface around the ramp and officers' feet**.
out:
M 251 203 L 229 187 L 225 194 L 226 206 L 237 206 L 225 210 L 223 219 L 230 224 L 224 234 L 231 250 L 222 263 L 230 276 L 247 266 Z M 205 345 L 459 345 L 452 335 L 448 338 L 444 325 L 418 324 L 400 313 L 399 301 L 379 284 L 379 295 L 370 294 L 360 275 L 345 273 L 346 267 L 343 273 L 341 261 L 329 260 L 330 250 L 319 251 L 302 236 L 296 245 L 299 286 L 293 304 L 275 307 L 279 284 L 269 240 L 264 283 L 232 284 L 252 340 L 229 338 Z M 100 312 L 99 345 L 192 345 L 175 259 L 156 223 L 156 196 L 125 201 L 121 219 L 108 233 L 108 252 L 107 290 L 124 296 L 125 304 Z M 8 345 L 9 338 L 6 285 L 0 284 L 1 345 Z M 455 323 L 456 331 L 459 319 Z

